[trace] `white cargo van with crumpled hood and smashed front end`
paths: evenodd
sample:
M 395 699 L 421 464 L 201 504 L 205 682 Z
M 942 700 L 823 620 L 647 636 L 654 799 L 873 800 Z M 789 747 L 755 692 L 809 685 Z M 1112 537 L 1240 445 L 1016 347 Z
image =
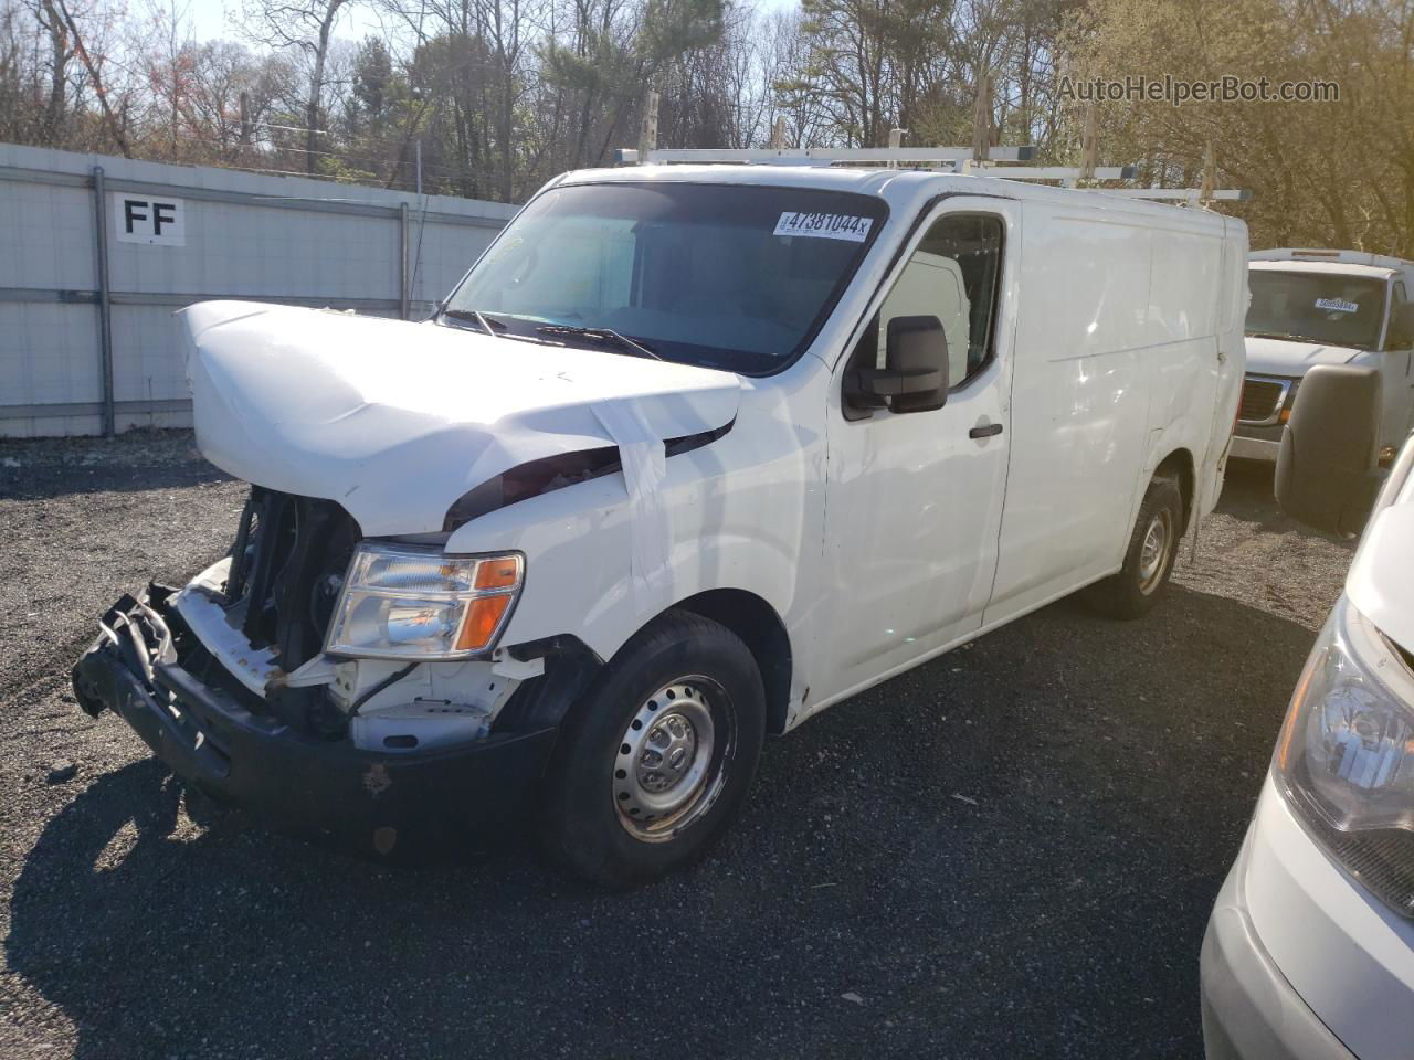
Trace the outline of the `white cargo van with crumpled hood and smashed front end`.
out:
M 75 667 L 188 782 L 370 852 L 519 820 L 690 859 L 766 734 L 1089 587 L 1161 594 L 1243 376 L 1246 229 L 919 171 L 542 189 L 434 319 L 185 311 L 235 544 Z

